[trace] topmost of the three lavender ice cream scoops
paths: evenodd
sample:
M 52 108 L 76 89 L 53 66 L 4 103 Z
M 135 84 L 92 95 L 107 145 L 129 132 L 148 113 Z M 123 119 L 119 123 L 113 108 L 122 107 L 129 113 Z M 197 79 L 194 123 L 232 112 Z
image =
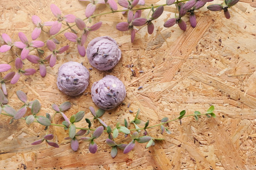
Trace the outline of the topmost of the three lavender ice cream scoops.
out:
M 109 70 L 119 62 L 121 50 L 113 38 L 103 36 L 89 42 L 86 55 L 89 63 L 96 69 Z

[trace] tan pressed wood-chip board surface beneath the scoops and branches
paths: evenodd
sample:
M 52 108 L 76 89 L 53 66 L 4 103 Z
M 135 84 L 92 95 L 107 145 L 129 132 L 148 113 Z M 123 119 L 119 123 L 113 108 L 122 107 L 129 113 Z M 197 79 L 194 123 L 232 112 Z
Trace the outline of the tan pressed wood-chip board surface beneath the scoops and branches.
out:
M 245 3 L 244 3 L 245 2 Z M 22 31 L 30 37 L 33 28 L 32 15 L 38 15 L 43 22 L 54 20 L 50 4 L 61 8 L 63 15 L 74 14 L 84 18 L 87 2 L 76 0 L 1 0 L 0 34 L 7 33 L 18 41 Z M 147 4 L 163 4 L 165 0 L 146 1 Z M 215 2 L 217 3 L 217 2 Z M 210 3 L 209 3 L 210 4 Z M 177 26 L 164 28 L 161 20 L 173 17 L 174 7 L 165 7 L 163 15 L 154 22 L 156 30 L 147 35 L 146 27 L 136 34 L 134 44 L 130 43 L 128 32 L 115 29 L 118 22 L 126 21 L 119 13 L 99 16 L 93 23 L 102 21 L 102 27 L 90 33 L 87 43 L 95 37 L 109 35 L 115 38 L 122 50 L 120 62 L 111 71 L 90 71 L 90 83 L 87 90 L 77 97 L 61 93 L 56 86 L 58 68 L 67 61 L 83 62 L 91 68 L 86 57 L 80 57 L 74 43 L 65 39 L 63 34 L 57 38 L 61 44 L 69 44 L 70 49 L 59 55 L 54 68 L 47 66 L 47 75 L 42 78 L 37 72 L 30 77 L 22 77 L 15 84 L 7 84 L 9 104 L 16 109 L 22 105 L 15 92 L 23 90 L 29 100 L 39 99 L 42 110 L 53 114 L 51 104 L 70 101 L 72 108 L 67 116 L 85 111 L 85 117 L 92 119 L 89 106 L 93 104 L 90 89 L 93 82 L 105 75 L 115 75 L 124 82 L 127 95 L 126 105 L 106 112 L 102 119 L 114 127 L 123 119 L 132 120 L 135 111 L 140 108 L 139 119 L 142 123 L 150 120 L 150 125 L 160 123 L 163 117 L 174 119 L 181 110 L 204 113 L 211 104 L 215 106 L 216 119 L 192 117 L 179 122 L 169 123 L 171 135 L 164 134 L 165 141 L 157 142 L 154 147 L 145 148 L 145 144 L 136 144 L 129 154 L 119 154 L 111 158 L 110 148 L 106 145 L 107 135 L 96 139 L 98 152 L 90 154 L 88 144 L 80 141 L 79 150 L 73 152 L 70 143 L 64 138 L 68 133 L 60 127 L 51 127 L 54 141 L 60 148 L 45 144 L 32 146 L 45 134 L 43 126 L 24 121 L 8 124 L 10 118 L 0 116 L 0 169 L 41 169 L 41 170 L 254 170 L 256 169 L 256 4 L 245 0 L 230 9 L 231 18 L 226 20 L 222 12 L 197 12 L 197 27 L 187 22 L 187 30 Z M 120 8 L 121 9 L 121 8 Z M 97 12 L 106 12 L 104 5 Z M 143 13 L 147 16 L 148 11 Z M 188 18 L 185 19 L 188 21 Z M 89 24 L 88 24 L 89 25 Z M 48 27 L 45 28 L 48 30 Z M 48 36 L 41 34 L 39 39 Z M 30 39 L 30 38 L 29 38 Z M 31 40 L 31 39 L 30 39 Z M 87 45 L 86 43 L 86 45 Z M 4 41 L 0 39 L 0 45 Z M 59 47 L 59 46 L 58 46 Z M 16 50 L 18 53 L 19 50 Z M 49 52 L 46 52 L 46 55 Z M 1 64 L 13 60 L 11 52 L 1 53 Z M 27 68 L 37 65 L 24 61 Z M 13 63 L 12 63 L 13 64 Z M 131 76 L 130 68 L 134 64 L 136 76 Z M 144 73 L 139 74 L 138 70 Z M 3 76 L 3 75 L 2 75 Z M 143 86 L 142 90 L 137 90 Z M 127 104 L 131 103 L 130 108 Z M 129 113 L 133 110 L 134 113 Z M 61 123 L 60 115 L 54 122 Z M 77 127 L 85 127 L 85 121 Z M 159 128 L 150 130 L 153 136 L 160 133 Z M 159 135 L 158 137 L 161 137 Z M 128 143 L 129 139 L 119 137 L 117 142 Z

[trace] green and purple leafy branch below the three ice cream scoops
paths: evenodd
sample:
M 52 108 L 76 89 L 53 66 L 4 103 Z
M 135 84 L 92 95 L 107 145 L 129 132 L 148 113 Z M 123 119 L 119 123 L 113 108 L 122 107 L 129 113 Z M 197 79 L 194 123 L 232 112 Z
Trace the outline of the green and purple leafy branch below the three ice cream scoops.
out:
M 69 108 L 71 107 L 70 102 L 64 102 L 60 106 L 58 106 L 57 104 L 52 104 L 52 109 L 55 111 L 53 113 L 53 116 L 51 117 L 49 113 L 46 113 L 45 116 L 41 116 L 37 115 L 41 110 L 41 104 L 37 99 L 28 102 L 26 93 L 19 90 L 16 92 L 16 94 L 20 101 L 24 103 L 19 110 L 15 110 L 11 106 L 7 105 L 8 101 L 6 101 L 3 91 L 0 90 L 0 113 L 2 115 L 12 117 L 10 124 L 14 120 L 22 119 L 25 120 L 26 124 L 28 125 L 33 122 L 37 122 L 45 126 L 46 135 L 42 139 L 33 142 L 32 145 L 41 144 L 43 141 L 45 141 L 48 145 L 58 148 L 59 145 L 57 143 L 50 141 L 54 138 L 54 135 L 52 133 L 48 134 L 48 132 L 50 126 L 60 126 L 63 127 L 64 130 L 69 131 L 69 136 L 65 139 L 70 140 L 72 150 L 77 151 L 79 148 L 78 140 L 82 140 L 85 142 L 89 142 L 89 151 L 92 154 L 95 154 L 98 149 L 96 141 L 102 135 L 102 133 L 105 132 L 108 134 L 106 143 L 108 144 L 108 146 L 111 147 L 111 157 L 115 157 L 117 155 L 117 148 L 123 150 L 124 154 L 127 154 L 134 148 L 136 143 L 147 143 L 146 148 L 148 148 L 150 146 L 154 146 L 155 142 L 158 140 L 165 140 L 164 138 L 152 137 L 147 131 L 149 128 L 160 127 L 161 133 L 166 132 L 167 134 L 171 134 L 171 131 L 165 126 L 169 122 L 179 120 L 181 124 L 181 120 L 183 118 L 190 116 L 193 116 L 196 121 L 198 121 L 198 119 L 203 115 L 206 115 L 207 117 L 216 117 L 216 115 L 213 113 L 214 106 L 210 106 L 207 112 L 203 114 L 195 111 L 194 114 L 186 115 L 186 111 L 182 110 L 179 117 L 177 117 L 176 119 L 169 120 L 169 118 L 164 117 L 163 119 L 161 119 L 161 123 L 152 126 L 149 126 L 149 120 L 147 120 L 144 126 L 139 127 L 138 124 L 141 124 L 141 120 L 138 118 L 140 113 L 140 110 L 138 110 L 132 121 L 128 122 L 126 119 L 124 119 L 123 125 L 121 125 L 121 122 L 117 122 L 115 127 L 111 128 L 111 126 L 108 126 L 104 121 L 102 121 L 102 119 L 100 119 L 100 117 L 105 113 L 105 110 L 99 109 L 95 112 L 93 107 L 89 107 L 89 110 L 93 115 L 93 120 L 91 121 L 89 118 L 85 118 L 85 121 L 88 124 L 88 128 L 80 128 L 76 127 L 75 123 L 80 122 L 84 119 L 85 112 L 77 112 L 76 114 L 73 114 L 70 118 L 68 118 L 64 112 L 69 110 Z M 5 113 L 2 113 L 2 110 Z M 29 115 L 25 116 L 26 114 Z M 62 124 L 52 123 L 56 114 L 61 114 L 64 118 Z M 92 128 L 94 121 L 100 122 L 102 126 Z M 131 125 L 134 126 L 133 129 L 130 127 Z M 79 130 L 78 132 L 76 132 L 77 129 Z M 85 135 L 85 137 L 82 137 L 83 135 Z M 130 137 L 130 143 L 116 143 L 115 139 L 120 136 Z M 79 139 L 78 137 L 81 138 Z

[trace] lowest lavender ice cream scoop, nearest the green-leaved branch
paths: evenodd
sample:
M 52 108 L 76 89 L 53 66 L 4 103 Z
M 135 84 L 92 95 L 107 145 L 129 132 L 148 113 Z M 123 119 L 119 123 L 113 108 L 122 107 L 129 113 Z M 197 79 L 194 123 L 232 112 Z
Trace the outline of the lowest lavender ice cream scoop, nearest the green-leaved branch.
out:
M 99 108 L 110 110 L 122 103 L 126 90 L 121 80 L 113 75 L 106 75 L 93 83 L 91 96 Z

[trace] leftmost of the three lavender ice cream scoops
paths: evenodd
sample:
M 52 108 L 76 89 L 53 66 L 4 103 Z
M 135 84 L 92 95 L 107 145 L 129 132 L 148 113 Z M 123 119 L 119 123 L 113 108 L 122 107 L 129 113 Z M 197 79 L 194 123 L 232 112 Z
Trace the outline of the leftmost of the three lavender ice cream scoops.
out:
M 57 86 L 63 93 L 76 96 L 89 84 L 89 71 L 78 62 L 66 62 L 59 67 Z

